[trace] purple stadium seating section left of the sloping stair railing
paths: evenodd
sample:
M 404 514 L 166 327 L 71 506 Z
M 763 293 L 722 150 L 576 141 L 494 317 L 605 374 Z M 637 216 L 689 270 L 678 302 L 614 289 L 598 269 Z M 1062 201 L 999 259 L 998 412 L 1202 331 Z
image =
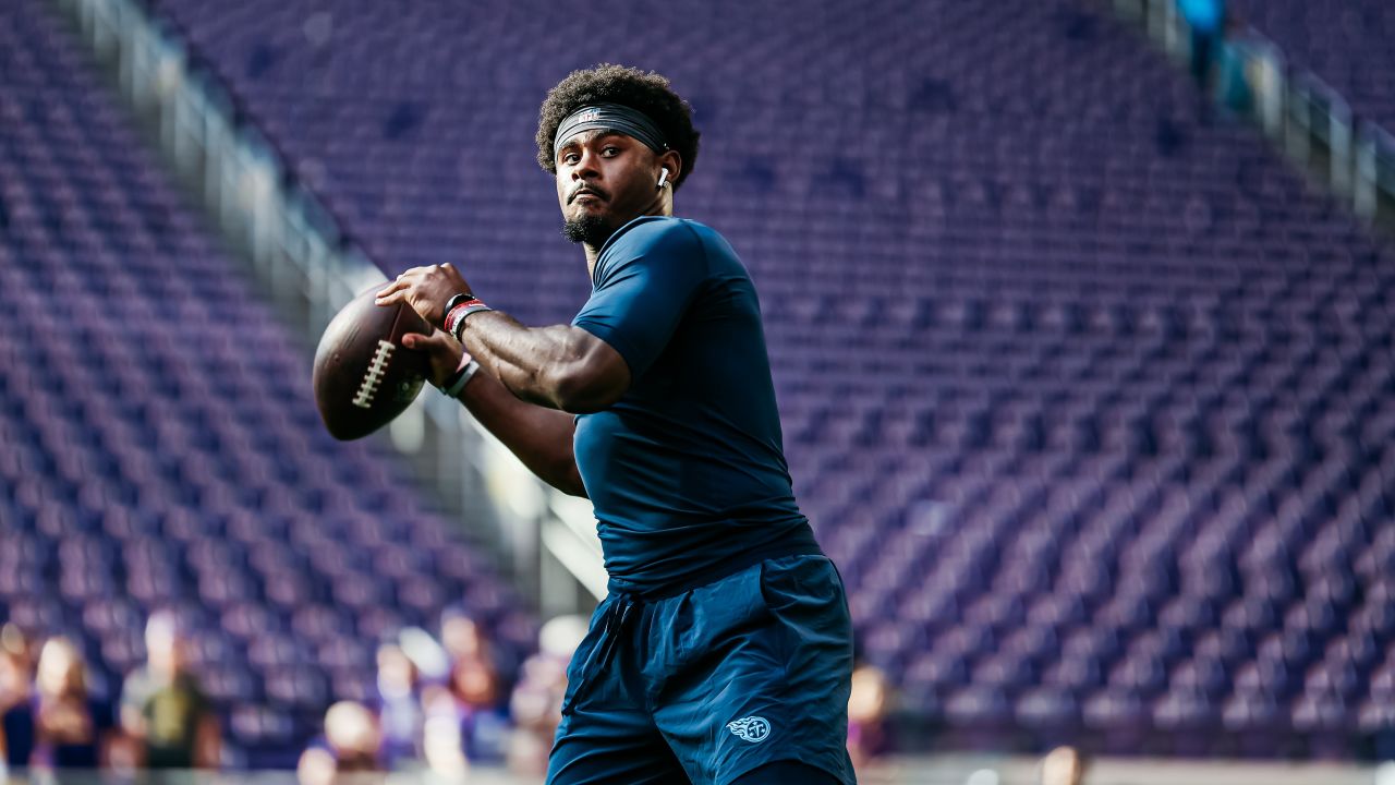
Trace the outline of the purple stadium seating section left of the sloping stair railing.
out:
M 368 443 L 181 205 L 42 0 L 0 8 L 0 620 L 82 641 L 114 697 L 173 606 L 250 765 L 289 765 L 374 647 L 465 603 L 533 622 Z

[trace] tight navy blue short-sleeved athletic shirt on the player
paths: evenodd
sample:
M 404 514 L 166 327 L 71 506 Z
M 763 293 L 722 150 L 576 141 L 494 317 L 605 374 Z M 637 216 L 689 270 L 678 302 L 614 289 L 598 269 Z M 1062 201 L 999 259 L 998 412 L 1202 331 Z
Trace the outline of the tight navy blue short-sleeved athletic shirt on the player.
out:
M 625 591 L 815 553 L 790 482 L 760 306 L 717 232 L 631 221 L 601 249 L 572 321 L 629 365 L 631 388 L 576 418 L 576 467 L 605 568 Z

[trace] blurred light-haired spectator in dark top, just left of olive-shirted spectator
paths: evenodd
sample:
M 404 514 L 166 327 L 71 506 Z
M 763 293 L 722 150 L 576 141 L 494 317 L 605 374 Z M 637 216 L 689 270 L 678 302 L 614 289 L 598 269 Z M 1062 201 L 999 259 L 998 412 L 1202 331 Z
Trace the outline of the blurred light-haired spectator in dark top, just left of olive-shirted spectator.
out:
M 112 708 L 88 694 L 86 665 L 73 641 L 49 638 L 35 679 L 33 763 L 52 768 L 96 768 L 106 761 Z

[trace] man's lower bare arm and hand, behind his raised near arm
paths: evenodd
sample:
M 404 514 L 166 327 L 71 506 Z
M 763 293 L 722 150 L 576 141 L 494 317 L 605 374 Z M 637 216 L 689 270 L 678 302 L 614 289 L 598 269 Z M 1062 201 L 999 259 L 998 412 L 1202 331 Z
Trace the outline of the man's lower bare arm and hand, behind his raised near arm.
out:
M 431 353 L 438 384 L 451 376 L 463 352 L 453 338 L 439 330 L 430 338 L 407 335 L 403 345 Z M 586 496 L 572 451 L 572 436 L 576 432 L 572 415 L 520 401 L 488 373 L 476 373 L 458 398 L 480 425 L 543 482 L 562 493 Z

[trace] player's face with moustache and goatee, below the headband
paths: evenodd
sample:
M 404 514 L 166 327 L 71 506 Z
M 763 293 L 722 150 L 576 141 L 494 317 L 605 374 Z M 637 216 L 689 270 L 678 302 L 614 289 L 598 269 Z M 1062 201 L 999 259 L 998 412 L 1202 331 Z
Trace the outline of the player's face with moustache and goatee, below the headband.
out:
M 583 131 L 557 152 L 557 200 L 564 233 L 593 247 L 633 218 L 658 211 L 660 163 L 633 137 L 607 130 Z

